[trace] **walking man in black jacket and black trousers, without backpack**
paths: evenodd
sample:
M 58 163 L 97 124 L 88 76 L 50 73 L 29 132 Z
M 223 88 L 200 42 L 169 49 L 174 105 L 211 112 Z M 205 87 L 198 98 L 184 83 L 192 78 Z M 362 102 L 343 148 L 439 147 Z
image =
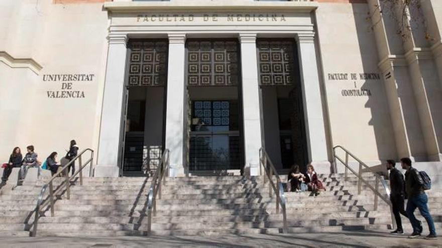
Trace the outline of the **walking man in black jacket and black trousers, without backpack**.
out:
M 393 234 L 404 233 L 402 228 L 402 221 L 400 218 L 400 214 L 404 215 L 408 218 L 407 213 L 404 209 L 404 200 L 405 200 L 405 181 L 404 175 L 394 166 L 396 165 L 396 161 L 387 160 L 387 170 L 390 171 L 390 201 L 393 208 L 394 218 L 396 219 L 397 229 L 392 231 Z M 422 225 L 422 223 L 420 223 Z

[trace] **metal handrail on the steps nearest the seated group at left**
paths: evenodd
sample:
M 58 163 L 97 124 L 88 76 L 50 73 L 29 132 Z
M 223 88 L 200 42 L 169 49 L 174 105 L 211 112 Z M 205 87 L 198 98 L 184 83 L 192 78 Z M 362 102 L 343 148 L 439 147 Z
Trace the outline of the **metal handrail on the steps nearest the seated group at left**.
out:
M 84 164 L 82 164 L 81 156 L 86 151 L 90 151 L 90 158 Z M 67 169 L 68 169 L 69 165 L 71 165 L 72 163 L 75 163 L 75 160 L 77 160 L 77 159 L 78 159 L 78 167 L 79 167 L 79 169 L 71 177 L 69 177 L 69 171 Z M 35 206 L 35 210 L 34 210 L 35 211 L 34 226 L 33 226 L 33 230 L 32 230 L 31 236 L 35 237 L 37 235 L 38 219 L 40 218 L 40 211 L 44 207 L 46 207 L 48 204 L 50 204 L 51 216 L 55 215 L 55 213 L 54 213 L 54 202 L 55 202 L 54 195 L 56 195 L 59 192 L 61 192 L 61 194 L 63 194 L 64 193 L 63 190 L 66 189 L 66 198 L 70 199 L 70 181 L 72 179 L 74 179 L 77 174 L 80 174 L 80 176 L 79 176 L 79 178 L 80 178 L 80 185 L 83 185 L 83 169 L 88 164 L 90 164 L 89 176 L 92 176 L 93 150 L 89 149 L 89 148 L 86 148 L 83 151 L 81 151 L 77 156 L 75 156 L 71 161 L 69 161 L 69 163 L 64 165 L 60 171 L 55 173 L 51 177 L 51 179 L 45 185 L 43 185 L 42 189 L 40 190 L 40 194 L 38 195 L 37 205 Z M 62 173 L 64 173 L 63 177 L 65 178 L 65 182 L 60 184 L 54 190 L 53 181 L 54 181 L 55 178 L 59 177 Z M 43 199 L 43 197 L 45 195 L 45 192 L 46 192 L 46 189 L 48 187 L 49 187 L 49 196 L 46 199 Z

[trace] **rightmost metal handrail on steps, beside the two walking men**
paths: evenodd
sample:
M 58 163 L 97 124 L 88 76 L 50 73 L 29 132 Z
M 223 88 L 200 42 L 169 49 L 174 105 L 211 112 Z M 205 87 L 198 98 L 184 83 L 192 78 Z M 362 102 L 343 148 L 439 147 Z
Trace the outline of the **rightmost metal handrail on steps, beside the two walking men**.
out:
M 345 161 L 341 157 L 336 155 L 336 150 L 338 148 L 342 149 L 345 152 L 345 154 L 346 154 Z M 344 147 L 342 147 L 340 145 L 333 147 L 333 154 L 334 154 L 334 157 L 335 157 L 335 164 L 336 164 L 336 159 L 338 159 L 345 166 L 345 175 L 344 175 L 344 180 L 345 181 L 347 181 L 347 179 L 348 179 L 348 171 L 349 170 L 358 177 L 358 194 L 361 194 L 362 183 L 366 184 L 374 192 L 375 198 L 374 198 L 374 207 L 373 207 L 373 209 L 375 211 L 378 209 L 378 197 L 380 197 L 385 203 L 388 204 L 388 206 L 390 208 L 391 222 L 393 224 L 393 228 L 395 228 L 396 221 L 395 221 L 395 218 L 394 218 L 394 214 L 393 214 L 393 211 L 392 211 L 392 204 L 391 204 L 391 201 L 390 201 L 390 188 L 388 187 L 384 177 L 380 176 L 377 173 L 374 173 L 376 180 L 375 180 L 375 187 L 373 187 L 372 185 L 370 185 L 369 182 L 364 180 L 364 178 L 362 177 L 363 167 L 366 168 L 366 169 L 370 168 L 367 164 L 362 162 L 359 158 L 357 158 L 355 155 L 353 155 L 349 150 L 347 150 L 346 148 L 344 148 Z M 359 171 L 358 172 L 356 172 L 354 169 L 352 169 L 349 166 L 349 156 L 351 156 L 354 160 L 356 160 L 359 163 Z M 385 191 L 385 194 L 387 195 L 387 197 L 385 197 L 380 192 L 380 190 L 379 190 L 379 182 L 381 183 L 382 187 L 384 188 L 384 191 Z

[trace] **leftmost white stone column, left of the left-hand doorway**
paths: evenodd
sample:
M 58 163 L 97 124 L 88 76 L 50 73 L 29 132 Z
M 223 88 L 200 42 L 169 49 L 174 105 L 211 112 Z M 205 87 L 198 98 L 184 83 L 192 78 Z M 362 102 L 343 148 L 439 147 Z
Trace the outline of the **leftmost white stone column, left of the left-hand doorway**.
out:
M 127 35 L 109 35 L 95 176 L 119 176 Z

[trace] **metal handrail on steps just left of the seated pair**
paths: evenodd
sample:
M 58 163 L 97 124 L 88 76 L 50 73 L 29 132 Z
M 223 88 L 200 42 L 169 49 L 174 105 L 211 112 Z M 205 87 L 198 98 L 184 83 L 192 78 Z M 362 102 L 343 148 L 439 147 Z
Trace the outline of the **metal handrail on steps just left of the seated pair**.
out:
M 259 160 L 260 160 L 260 165 L 261 165 L 259 167 L 261 175 L 264 176 L 263 171 L 262 171 L 262 169 L 264 168 L 267 178 L 269 179 L 269 197 L 273 197 L 272 189 L 273 189 L 273 192 L 276 194 L 276 213 L 279 213 L 279 205 L 281 204 L 282 221 L 283 221 L 282 232 L 287 233 L 288 227 L 287 227 L 287 214 L 286 214 L 286 207 L 285 207 L 285 204 L 287 203 L 287 198 L 284 193 L 284 186 L 282 185 L 281 178 L 279 177 L 278 172 L 276 172 L 275 166 L 273 165 L 272 161 L 270 160 L 269 155 L 262 147 L 259 149 Z M 267 164 L 269 166 L 267 166 Z M 272 179 L 273 176 L 276 177 L 277 186 L 273 182 L 273 179 Z M 264 185 L 266 184 L 266 176 L 264 176 L 263 183 L 264 183 Z

